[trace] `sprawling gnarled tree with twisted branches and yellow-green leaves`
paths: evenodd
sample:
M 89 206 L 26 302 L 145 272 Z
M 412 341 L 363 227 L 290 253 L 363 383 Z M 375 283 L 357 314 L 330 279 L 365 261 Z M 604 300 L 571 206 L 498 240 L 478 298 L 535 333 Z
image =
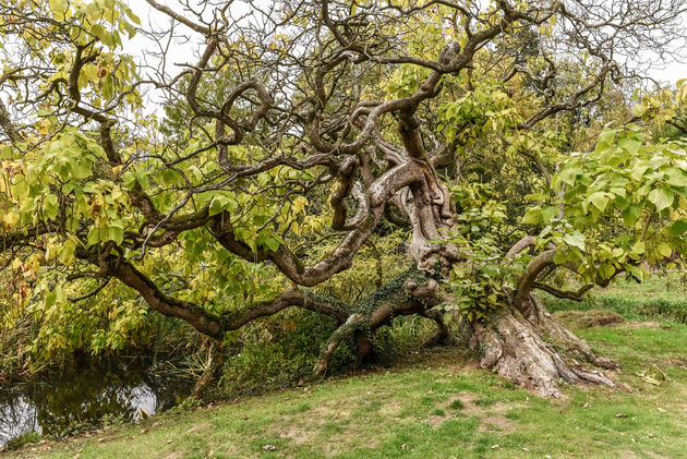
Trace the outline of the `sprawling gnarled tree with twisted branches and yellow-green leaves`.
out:
M 120 0 L 0 5 L 8 305 L 50 317 L 122 285 L 216 339 L 303 307 L 338 324 L 316 373 L 394 316 L 459 317 L 483 367 L 542 395 L 612 384 L 534 290 L 683 253 L 679 145 L 587 138 L 632 117 L 618 60 L 682 40 L 680 0 L 147 2 L 168 29 Z M 159 49 L 138 63 L 136 33 Z M 197 56 L 171 74 L 179 34 Z M 395 229 L 402 276 L 355 304 L 312 289 Z M 546 283 L 559 269 L 581 289 Z

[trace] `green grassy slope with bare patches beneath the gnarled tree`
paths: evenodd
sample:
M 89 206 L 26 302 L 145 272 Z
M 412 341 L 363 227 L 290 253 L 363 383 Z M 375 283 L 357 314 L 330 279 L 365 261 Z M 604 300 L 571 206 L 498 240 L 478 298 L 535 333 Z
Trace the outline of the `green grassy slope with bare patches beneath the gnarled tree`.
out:
M 673 309 L 684 301 L 684 293 L 665 295 L 662 289 L 655 283 L 626 286 L 581 309 L 601 303 L 628 314 L 629 303 L 648 304 L 661 294 Z M 563 303 L 554 306 L 570 309 Z M 572 325 L 584 322 L 576 319 L 579 313 L 566 317 Z M 443 349 L 426 351 L 415 363 L 391 371 L 166 413 L 140 425 L 27 447 L 15 455 L 74 458 L 79 454 L 81 459 L 687 457 L 687 325 L 654 317 L 651 323 L 577 331 L 602 354 L 620 361 L 623 370 L 614 378 L 629 385 L 632 394 L 568 387 L 566 400 L 540 399 L 474 370 L 462 351 Z M 276 449 L 266 451 L 266 445 Z

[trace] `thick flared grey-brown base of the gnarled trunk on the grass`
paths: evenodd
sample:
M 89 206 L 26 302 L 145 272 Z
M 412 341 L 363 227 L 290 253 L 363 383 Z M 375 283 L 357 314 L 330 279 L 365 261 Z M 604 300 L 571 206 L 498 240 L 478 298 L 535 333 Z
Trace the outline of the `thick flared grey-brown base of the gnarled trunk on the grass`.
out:
M 475 325 L 470 346 L 482 352 L 481 367 L 544 397 L 559 397 L 562 382 L 614 386 L 603 373 L 586 369 L 575 357 L 606 369 L 617 364 L 594 355 L 589 345 L 551 317 L 538 298 L 532 295 L 528 305 L 525 315 L 507 306 L 492 325 Z

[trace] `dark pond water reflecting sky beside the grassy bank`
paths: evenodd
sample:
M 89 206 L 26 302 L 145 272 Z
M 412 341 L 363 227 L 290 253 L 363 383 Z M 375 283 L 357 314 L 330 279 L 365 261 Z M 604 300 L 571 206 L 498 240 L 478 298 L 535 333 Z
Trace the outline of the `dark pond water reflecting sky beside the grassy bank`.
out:
M 0 450 L 24 434 L 61 436 L 104 419 L 134 421 L 183 400 L 186 377 L 166 376 L 141 360 L 108 359 L 31 383 L 0 388 Z

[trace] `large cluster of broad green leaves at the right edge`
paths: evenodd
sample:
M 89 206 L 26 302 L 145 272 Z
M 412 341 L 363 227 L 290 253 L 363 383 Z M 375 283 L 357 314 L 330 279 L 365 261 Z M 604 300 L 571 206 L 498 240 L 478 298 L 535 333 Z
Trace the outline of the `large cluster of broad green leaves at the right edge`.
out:
M 642 259 L 675 268 L 682 258 L 673 254 L 687 249 L 686 159 L 680 141 L 647 143 L 632 126 L 604 131 L 593 152 L 571 157 L 554 178 L 561 197 L 542 196 L 546 205 L 523 222 L 543 226 L 539 244 L 562 247 L 555 262 L 575 264 L 584 281 L 623 270 L 642 280 Z

